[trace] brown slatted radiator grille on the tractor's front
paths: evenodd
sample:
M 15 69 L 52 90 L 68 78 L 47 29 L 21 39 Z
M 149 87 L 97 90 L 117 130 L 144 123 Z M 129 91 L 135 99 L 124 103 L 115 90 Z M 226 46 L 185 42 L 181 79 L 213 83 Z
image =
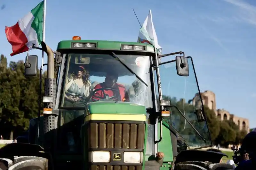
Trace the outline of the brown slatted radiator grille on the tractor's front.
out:
M 145 124 L 134 122 L 90 122 L 88 128 L 88 148 L 143 150 L 145 139 L 145 127 Z M 128 170 L 132 170 L 135 167 L 132 169 L 130 168 L 132 167 L 129 166 Z M 106 170 L 110 169 L 107 168 Z M 119 169 L 114 168 L 113 170 Z

